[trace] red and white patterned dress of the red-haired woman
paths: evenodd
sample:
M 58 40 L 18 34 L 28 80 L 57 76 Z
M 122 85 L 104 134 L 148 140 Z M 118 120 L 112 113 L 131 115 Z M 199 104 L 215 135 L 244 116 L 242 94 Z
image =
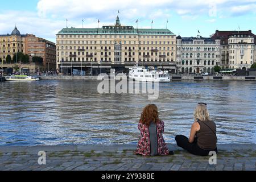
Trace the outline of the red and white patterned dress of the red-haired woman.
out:
M 141 137 L 137 144 L 136 154 L 150 156 L 150 133 L 149 127 L 145 124 L 139 123 L 139 131 L 141 131 Z M 158 155 L 169 155 L 169 150 L 166 142 L 163 139 L 164 122 L 159 120 L 156 123 L 156 132 L 158 137 Z

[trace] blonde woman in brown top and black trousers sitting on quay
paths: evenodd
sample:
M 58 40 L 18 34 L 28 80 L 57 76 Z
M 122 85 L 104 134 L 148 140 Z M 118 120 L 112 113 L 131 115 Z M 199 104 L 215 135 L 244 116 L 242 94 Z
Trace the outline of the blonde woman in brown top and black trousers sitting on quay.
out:
M 209 118 L 207 104 L 199 103 L 195 109 L 195 122 L 191 127 L 189 139 L 177 135 L 177 146 L 184 148 L 194 155 L 207 156 L 210 151 L 217 152 L 216 125 Z

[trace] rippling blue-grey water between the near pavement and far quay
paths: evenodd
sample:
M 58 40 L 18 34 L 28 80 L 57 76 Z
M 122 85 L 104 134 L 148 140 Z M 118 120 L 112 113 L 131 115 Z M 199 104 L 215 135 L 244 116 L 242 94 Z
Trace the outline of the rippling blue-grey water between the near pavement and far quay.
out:
M 197 102 L 207 102 L 218 143 L 256 143 L 255 81 L 172 81 L 159 98 L 98 94 L 97 81 L 0 83 L 0 145 L 135 144 L 144 106 L 154 103 L 164 138 L 188 136 Z

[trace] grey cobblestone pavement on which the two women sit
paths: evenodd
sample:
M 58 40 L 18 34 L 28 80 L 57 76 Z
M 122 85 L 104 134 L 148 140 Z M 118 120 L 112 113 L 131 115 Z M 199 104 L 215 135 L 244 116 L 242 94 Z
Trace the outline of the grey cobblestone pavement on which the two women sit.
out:
M 186 171 L 250 170 L 256 167 L 256 144 L 218 145 L 217 164 L 210 156 L 195 156 L 168 144 L 175 155 L 134 155 L 134 145 L 0 147 L 1 171 Z M 39 165 L 39 151 L 46 152 L 46 165 Z

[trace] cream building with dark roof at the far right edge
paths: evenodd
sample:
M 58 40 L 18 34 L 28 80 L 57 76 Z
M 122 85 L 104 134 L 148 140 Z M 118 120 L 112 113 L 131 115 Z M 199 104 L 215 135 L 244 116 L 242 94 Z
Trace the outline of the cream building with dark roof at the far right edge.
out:
M 249 31 L 218 31 L 212 39 L 221 40 L 222 68 L 248 69 L 256 60 L 256 36 Z

